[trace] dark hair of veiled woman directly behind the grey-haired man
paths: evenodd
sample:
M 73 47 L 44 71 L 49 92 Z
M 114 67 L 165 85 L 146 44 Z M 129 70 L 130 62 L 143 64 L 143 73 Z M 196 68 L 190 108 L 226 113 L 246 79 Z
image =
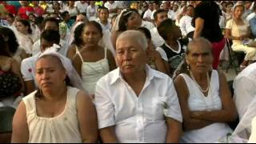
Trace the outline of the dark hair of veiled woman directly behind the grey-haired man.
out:
M 130 17 L 131 14 L 133 14 L 133 12 L 139 14 L 138 10 L 135 10 L 135 9 L 129 9 L 122 13 L 120 21 L 118 23 L 119 24 L 118 31 L 126 31 L 127 30 L 128 18 Z

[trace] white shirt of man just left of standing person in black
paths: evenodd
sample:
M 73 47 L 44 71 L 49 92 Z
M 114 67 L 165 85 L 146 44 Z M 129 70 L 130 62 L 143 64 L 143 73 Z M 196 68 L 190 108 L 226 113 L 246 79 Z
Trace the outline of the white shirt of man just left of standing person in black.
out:
M 179 21 L 179 27 L 182 30 L 182 35 L 186 36 L 191 31 L 194 31 L 194 26 L 191 25 L 192 17 L 184 15 Z

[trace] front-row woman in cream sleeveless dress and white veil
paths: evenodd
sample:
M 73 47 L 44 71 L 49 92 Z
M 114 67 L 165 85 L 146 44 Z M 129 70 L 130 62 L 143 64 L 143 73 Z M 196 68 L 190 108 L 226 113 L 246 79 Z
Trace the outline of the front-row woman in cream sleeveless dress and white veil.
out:
M 11 142 L 97 142 L 96 110 L 70 60 L 48 49 L 35 65 L 39 90 L 19 104 Z

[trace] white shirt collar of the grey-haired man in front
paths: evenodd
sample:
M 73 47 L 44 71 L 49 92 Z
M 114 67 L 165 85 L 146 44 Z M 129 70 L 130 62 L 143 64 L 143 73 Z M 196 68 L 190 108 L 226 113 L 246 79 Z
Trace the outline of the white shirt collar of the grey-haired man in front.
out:
M 148 66 L 148 65 L 145 66 L 145 70 L 146 70 L 146 81 L 147 82 L 150 82 L 154 78 L 163 78 L 162 74 L 157 73 L 155 70 L 150 68 L 150 66 Z M 115 82 L 118 82 L 118 80 L 123 79 L 119 67 L 116 70 L 114 70 L 113 72 L 114 72 L 114 74 L 112 75 L 110 85 L 113 85 Z

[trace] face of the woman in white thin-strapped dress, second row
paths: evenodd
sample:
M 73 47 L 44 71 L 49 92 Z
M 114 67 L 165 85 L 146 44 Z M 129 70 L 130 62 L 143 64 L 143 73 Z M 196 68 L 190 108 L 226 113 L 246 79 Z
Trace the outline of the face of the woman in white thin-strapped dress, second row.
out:
M 98 41 L 102 38 L 102 34 L 97 27 L 87 25 L 82 31 L 82 40 L 86 43 L 86 46 L 97 46 Z

